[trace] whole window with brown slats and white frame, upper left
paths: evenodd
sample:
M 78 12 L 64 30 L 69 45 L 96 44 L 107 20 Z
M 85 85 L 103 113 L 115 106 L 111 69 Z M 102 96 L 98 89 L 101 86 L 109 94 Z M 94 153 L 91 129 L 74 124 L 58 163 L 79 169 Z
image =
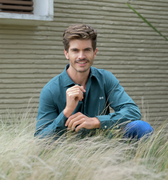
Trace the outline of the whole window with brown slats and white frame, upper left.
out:
M 53 16 L 53 0 L 0 0 L 0 24 L 40 25 Z

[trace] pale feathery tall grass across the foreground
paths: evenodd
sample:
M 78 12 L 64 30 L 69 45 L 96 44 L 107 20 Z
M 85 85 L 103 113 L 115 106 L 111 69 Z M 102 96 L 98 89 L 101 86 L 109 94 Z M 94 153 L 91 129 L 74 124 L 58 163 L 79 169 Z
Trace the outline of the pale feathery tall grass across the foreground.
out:
M 2 180 L 168 179 L 168 122 L 140 141 L 99 133 L 83 139 L 68 134 L 52 143 L 33 137 L 35 119 L 14 122 L 0 121 Z

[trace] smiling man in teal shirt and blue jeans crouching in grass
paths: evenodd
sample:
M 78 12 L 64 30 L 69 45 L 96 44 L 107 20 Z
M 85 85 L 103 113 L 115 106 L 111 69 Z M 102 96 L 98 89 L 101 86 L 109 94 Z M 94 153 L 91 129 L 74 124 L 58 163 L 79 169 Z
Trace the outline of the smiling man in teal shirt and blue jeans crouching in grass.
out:
M 139 108 L 115 76 L 91 67 L 96 43 L 97 33 L 90 26 L 71 25 L 65 30 L 64 54 L 69 64 L 41 91 L 35 136 L 59 137 L 67 129 L 87 134 L 117 124 L 120 128 L 121 123 L 125 123 L 125 137 L 140 138 L 153 131 L 140 120 Z M 114 113 L 109 112 L 109 106 Z

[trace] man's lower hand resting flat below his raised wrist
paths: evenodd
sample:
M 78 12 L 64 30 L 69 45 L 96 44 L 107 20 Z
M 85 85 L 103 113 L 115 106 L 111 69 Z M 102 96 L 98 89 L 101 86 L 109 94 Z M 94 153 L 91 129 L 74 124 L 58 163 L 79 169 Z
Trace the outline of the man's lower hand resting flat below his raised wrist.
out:
M 81 112 L 78 112 L 68 118 L 68 120 L 65 123 L 65 126 L 68 126 L 67 128 L 71 129 L 72 131 L 75 129 L 75 131 L 78 132 L 81 128 L 100 128 L 100 121 L 96 117 L 89 118 Z

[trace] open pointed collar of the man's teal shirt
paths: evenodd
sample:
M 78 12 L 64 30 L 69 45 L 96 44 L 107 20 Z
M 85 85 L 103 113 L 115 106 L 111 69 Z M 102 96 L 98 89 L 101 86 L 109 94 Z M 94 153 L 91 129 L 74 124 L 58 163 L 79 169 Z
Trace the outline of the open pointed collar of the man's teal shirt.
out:
M 64 83 L 64 87 L 70 87 L 71 85 L 75 85 L 75 83 L 72 81 L 72 79 L 69 77 L 68 73 L 67 73 L 67 69 L 69 67 L 69 64 L 67 64 L 65 66 L 65 69 L 62 72 L 62 78 L 63 78 L 63 83 Z M 90 67 L 90 74 L 89 74 L 89 78 L 91 78 L 92 76 L 96 77 L 96 71 L 94 67 Z

